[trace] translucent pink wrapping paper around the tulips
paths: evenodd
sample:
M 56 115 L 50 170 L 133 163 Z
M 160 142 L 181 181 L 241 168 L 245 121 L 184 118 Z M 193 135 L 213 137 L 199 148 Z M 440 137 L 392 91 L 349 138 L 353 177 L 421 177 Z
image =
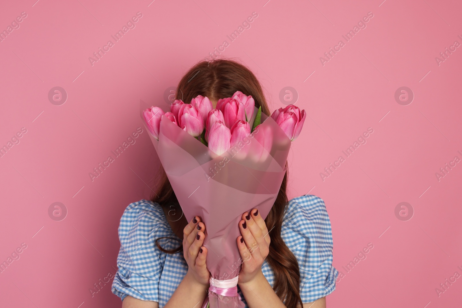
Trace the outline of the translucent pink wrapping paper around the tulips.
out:
M 146 109 L 142 102 L 140 109 Z M 186 219 L 197 215 L 206 225 L 203 246 L 215 279 L 239 274 L 243 260 L 236 243 L 241 235 L 238 222 L 253 208 L 267 217 L 286 173 L 291 141 L 271 117 L 262 114 L 261 121 L 247 139 L 220 156 L 164 115 L 159 140 L 149 133 Z M 238 296 L 212 291 L 202 307 L 207 301 L 210 308 L 244 307 Z

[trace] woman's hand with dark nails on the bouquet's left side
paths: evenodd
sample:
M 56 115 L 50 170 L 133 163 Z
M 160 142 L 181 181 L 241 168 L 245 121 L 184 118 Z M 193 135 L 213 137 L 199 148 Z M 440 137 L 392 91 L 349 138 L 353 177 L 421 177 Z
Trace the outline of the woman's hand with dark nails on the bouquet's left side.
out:
M 198 229 L 199 227 L 199 229 Z M 205 224 L 195 216 L 183 229 L 183 256 L 188 263 L 188 275 L 205 286 L 209 285 L 210 272 L 205 264 L 207 248 L 204 242 Z

